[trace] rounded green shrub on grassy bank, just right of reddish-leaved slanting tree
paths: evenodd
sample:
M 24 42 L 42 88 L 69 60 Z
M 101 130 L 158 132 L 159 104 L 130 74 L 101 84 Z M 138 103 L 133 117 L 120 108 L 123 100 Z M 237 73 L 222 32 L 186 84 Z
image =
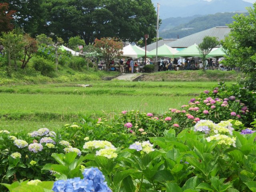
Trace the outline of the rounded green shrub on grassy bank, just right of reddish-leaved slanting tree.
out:
M 33 60 L 33 68 L 39 71 L 44 76 L 53 76 L 55 66 L 54 63 L 46 60 L 42 57 L 34 57 Z

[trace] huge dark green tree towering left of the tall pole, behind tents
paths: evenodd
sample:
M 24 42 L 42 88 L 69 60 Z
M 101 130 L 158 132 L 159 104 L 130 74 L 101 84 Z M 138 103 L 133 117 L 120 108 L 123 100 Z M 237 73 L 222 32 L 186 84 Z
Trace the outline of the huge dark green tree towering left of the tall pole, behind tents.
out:
M 81 36 L 86 44 L 108 36 L 128 41 L 138 41 L 144 34 L 149 34 L 150 38 L 156 36 L 156 11 L 151 0 L 46 2 L 47 26 L 65 41 L 74 36 Z

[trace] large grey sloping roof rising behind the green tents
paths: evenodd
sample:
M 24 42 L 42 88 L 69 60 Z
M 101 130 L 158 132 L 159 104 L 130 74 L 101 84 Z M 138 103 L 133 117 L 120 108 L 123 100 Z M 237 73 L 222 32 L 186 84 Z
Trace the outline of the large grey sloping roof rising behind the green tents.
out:
M 202 43 L 204 36 L 217 37 L 218 41 L 220 41 L 224 39 L 224 37 L 227 36 L 229 32 L 230 32 L 230 28 L 228 28 L 227 26 L 219 26 L 219 27 L 217 26 L 217 27 L 213 27 L 213 28 L 186 36 L 176 41 L 167 43 L 166 45 L 172 48 L 189 47 L 193 44 L 198 45 Z M 220 47 L 220 45 L 218 47 Z M 148 46 L 147 46 L 147 49 L 148 49 Z

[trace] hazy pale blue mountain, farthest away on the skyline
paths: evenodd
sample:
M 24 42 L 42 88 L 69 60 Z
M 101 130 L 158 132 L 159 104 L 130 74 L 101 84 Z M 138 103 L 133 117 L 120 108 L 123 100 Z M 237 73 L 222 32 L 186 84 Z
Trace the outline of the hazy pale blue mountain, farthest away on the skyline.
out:
M 170 17 L 189 17 L 194 15 L 208 15 L 219 12 L 246 12 L 246 7 L 252 3 L 242 0 L 152 0 L 157 7 L 160 4 L 160 19 Z

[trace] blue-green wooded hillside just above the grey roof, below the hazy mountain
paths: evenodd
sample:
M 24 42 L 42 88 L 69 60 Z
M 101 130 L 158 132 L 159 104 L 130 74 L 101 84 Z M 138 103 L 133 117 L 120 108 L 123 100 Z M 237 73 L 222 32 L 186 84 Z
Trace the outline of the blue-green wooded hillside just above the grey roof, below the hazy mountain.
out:
M 215 27 L 226 26 L 234 21 L 232 16 L 236 13 L 216 13 L 207 16 L 200 16 L 190 20 L 188 23 L 180 24 L 170 30 L 160 30 L 159 36 L 162 38 L 183 38 L 185 36 Z M 170 18 L 172 21 L 174 18 Z M 177 18 L 178 19 L 178 18 Z M 166 19 L 169 20 L 169 19 Z M 165 27 L 168 26 L 168 22 L 164 20 Z M 160 26 L 161 28 L 161 26 Z

